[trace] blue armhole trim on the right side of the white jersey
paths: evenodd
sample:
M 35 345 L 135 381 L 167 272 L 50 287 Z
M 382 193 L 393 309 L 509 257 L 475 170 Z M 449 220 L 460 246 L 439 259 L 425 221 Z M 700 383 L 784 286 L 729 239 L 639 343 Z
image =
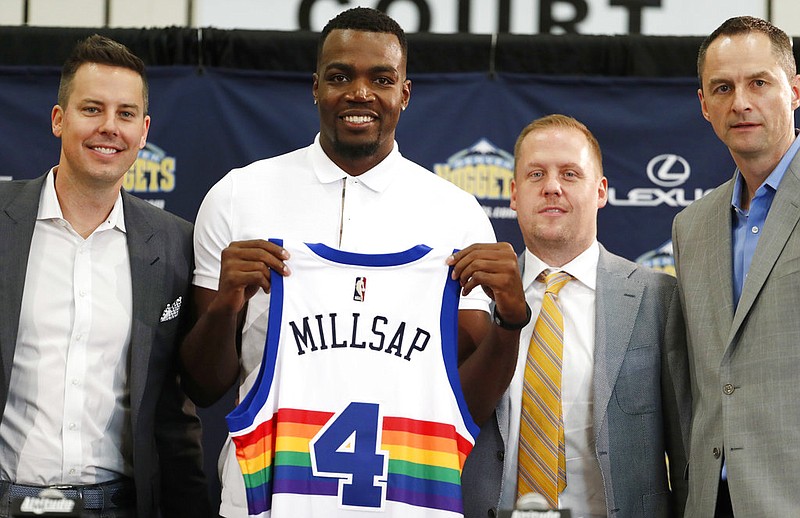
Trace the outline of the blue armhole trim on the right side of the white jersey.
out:
M 453 250 L 453 253 L 458 249 Z M 444 367 L 447 371 L 447 379 L 450 381 L 450 388 L 456 397 L 458 409 L 464 419 L 472 438 L 477 439 L 480 427 L 475 424 L 472 414 L 467 408 L 467 401 L 464 399 L 464 392 L 461 390 L 461 378 L 458 375 L 458 301 L 461 293 L 461 284 L 452 278 L 453 267 L 447 269 L 447 281 L 444 284 L 442 294 L 441 311 L 441 331 L 442 331 L 442 355 L 444 356 Z M 445 308 L 452 308 L 445 311 Z

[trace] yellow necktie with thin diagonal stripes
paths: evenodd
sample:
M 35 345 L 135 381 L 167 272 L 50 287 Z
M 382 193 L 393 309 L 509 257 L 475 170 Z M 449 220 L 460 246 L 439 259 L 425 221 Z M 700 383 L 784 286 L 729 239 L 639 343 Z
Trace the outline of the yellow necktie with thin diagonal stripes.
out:
M 561 408 L 564 316 L 558 292 L 571 279 L 566 272 L 549 270 L 536 278 L 546 287 L 528 346 L 520 416 L 517 494 L 540 493 L 554 509 L 558 494 L 567 487 Z

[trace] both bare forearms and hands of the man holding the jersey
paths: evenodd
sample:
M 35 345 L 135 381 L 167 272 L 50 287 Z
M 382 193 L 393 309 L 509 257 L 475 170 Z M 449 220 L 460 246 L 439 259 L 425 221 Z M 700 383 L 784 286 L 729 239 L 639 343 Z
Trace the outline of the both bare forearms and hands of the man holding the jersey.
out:
M 269 292 L 270 269 L 290 274 L 287 259 L 285 250 L 268 241 L 234 242 L 222 252 L 219 290 L 194 288 L 199 319 L 181 355 L 187 392 L 198 405 L 213 404 L 237 381 L 237 343 L 247 301 L 258 290 Z M 465 294 L 480 286 L 506 322 L 525 320 L 525 295 L 511 245 L 472 245 L 454 254 L 449 264 Z M 473 419 L 481 424 L 514 374 L 519 331 L 494 325 L 483 311 L 465 310 L 459 311 L 458 336 L 462 390 Z

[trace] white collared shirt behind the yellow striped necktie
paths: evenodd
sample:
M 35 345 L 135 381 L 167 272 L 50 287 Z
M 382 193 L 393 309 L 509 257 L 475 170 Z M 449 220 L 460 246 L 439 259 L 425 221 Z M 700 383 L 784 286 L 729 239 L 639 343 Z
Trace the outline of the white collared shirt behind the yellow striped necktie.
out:
M 592 407 L 594 390 L 595 288 L 600 247 L 594 241 L 589 248 L 561 268 L 551 268 L 525 250 L 522 285 L 533 318 L 520 332 L 519 357 L 509 386 L 511 415 L 500 508 L 513 509 L 517 498 L 517 455 L 522 383 L 528 344 L 536 316 L 542 307 L 544 283 L 536 277 L 544 269 L 563 270 L 573 277 L 558 294 L 564 314 L 564 357 L 562 361 L 561 399 L 564 409 L 564 436 L 567 456 L 567 488 L 559 497 L 559 507 L 570 509 L 574 518 L 606 516 L 603 478 L 595 456 Z

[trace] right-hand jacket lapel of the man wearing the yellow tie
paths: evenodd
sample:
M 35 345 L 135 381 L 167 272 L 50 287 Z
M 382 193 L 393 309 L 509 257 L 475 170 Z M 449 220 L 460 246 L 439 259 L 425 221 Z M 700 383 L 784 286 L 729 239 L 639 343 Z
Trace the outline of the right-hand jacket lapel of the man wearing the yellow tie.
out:
M 595 293 L 595 439 L 599 439 L 599 423 L 605 418 L 642 301 L 643 286 L 630 279 L 635 269 L 600 245 Z

